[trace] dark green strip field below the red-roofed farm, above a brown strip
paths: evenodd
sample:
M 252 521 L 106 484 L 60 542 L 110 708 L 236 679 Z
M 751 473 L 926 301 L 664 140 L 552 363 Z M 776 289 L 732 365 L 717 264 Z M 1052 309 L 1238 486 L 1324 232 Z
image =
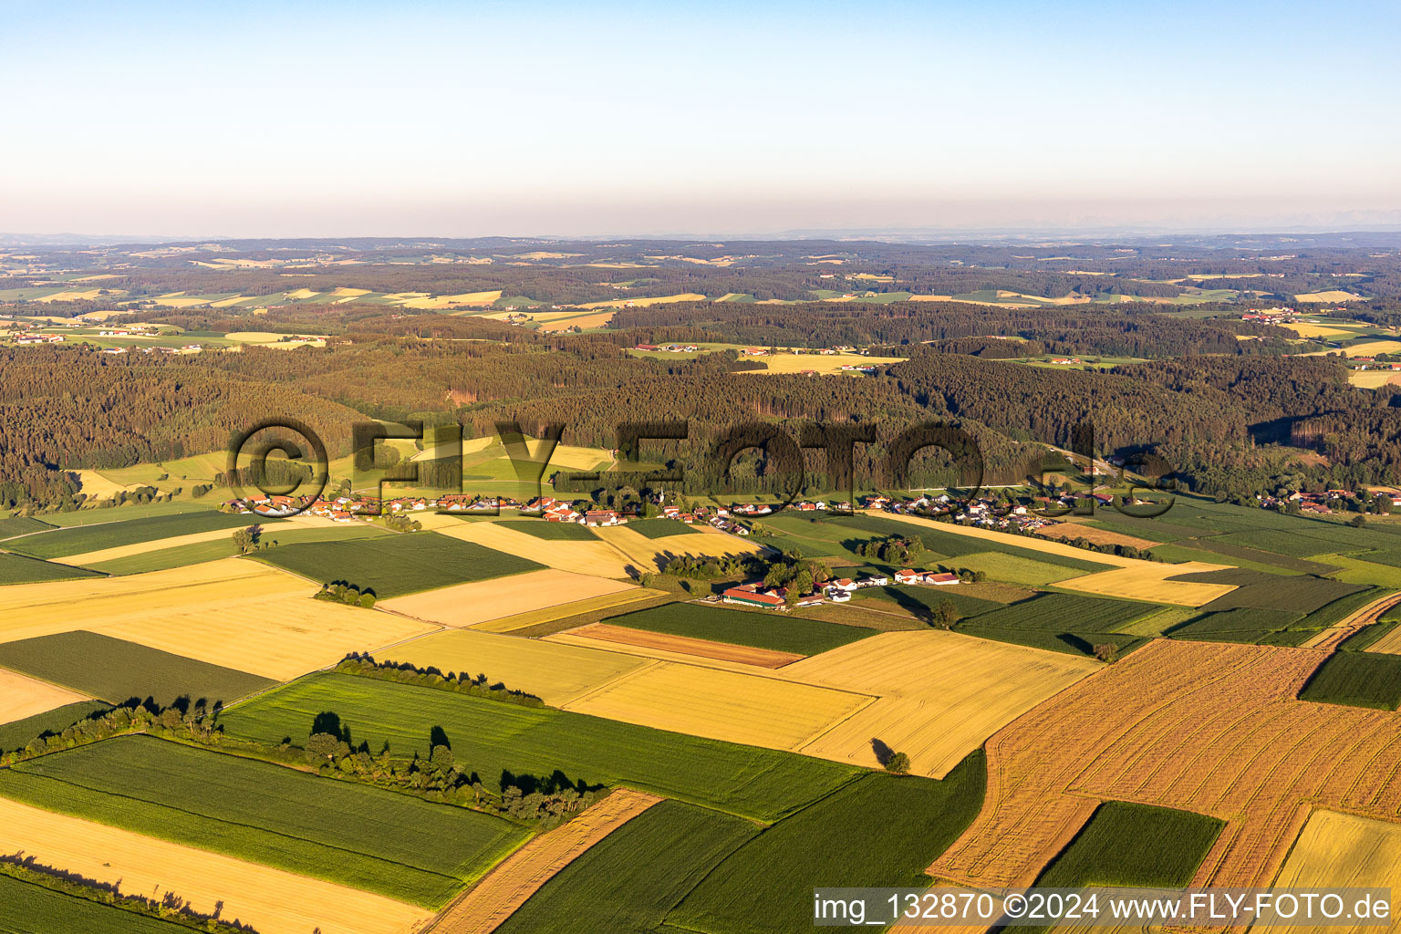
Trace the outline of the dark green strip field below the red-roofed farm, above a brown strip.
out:
M 874 636 L 874 629 L 824 623 L 769 611 L 745 612 L 700 604 L 664 604 L 622 616 L 612 616 L 614 626 L 647 629 L 671 636 L 709 639 L 717 643 L 772 648 L 773 651 L 817 655 L 838 646 Z

